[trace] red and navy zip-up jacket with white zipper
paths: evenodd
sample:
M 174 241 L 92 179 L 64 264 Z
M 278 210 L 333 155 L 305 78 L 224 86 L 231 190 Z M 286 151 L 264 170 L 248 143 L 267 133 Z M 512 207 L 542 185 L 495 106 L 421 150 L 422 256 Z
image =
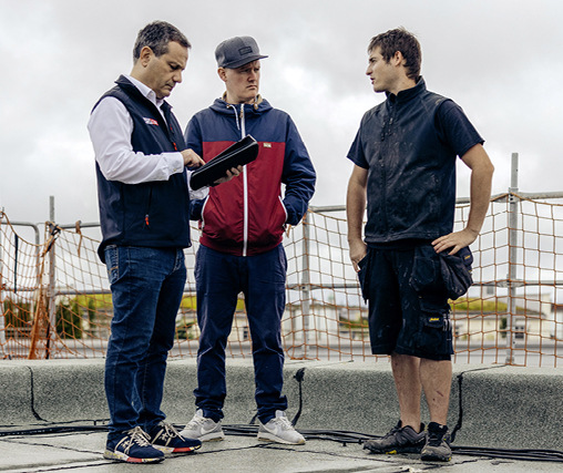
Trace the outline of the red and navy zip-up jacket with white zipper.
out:
M 315 192 L 316 174 L 291 117 L 258 96 L 255 104 L 222 99 L 187 124 L 188 148 L 205 162 L 247 134 L 259 144 L 256 161 L 227 183 L 192 202 L 199 243 L 217 251 L 253 256 L 282 243 L 286 225 L 297 225 Z M 285 185 L 284 197 L 282 184 Z

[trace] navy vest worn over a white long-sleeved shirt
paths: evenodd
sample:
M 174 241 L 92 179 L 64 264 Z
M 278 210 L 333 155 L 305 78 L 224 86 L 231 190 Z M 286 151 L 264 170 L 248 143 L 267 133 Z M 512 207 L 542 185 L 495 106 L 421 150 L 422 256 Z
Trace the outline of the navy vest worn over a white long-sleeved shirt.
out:
M 166 102 L 163 104 L 164 121 L 156 106 L 126 78 L 122 75 L 115 83 L 117 85 L 100 101 L 113 96 L 125 105 L 133 120 L 131 143 L 134 152 L 160 154 L 185 150 L 182 130 Z M 173 174 L 168 181 L 123 184 L 108 181 L 96 163 L 96 175 L 103 236 L 98 254 L 102 261 L 105 259 L 104 248 L 112 244 L 156 248 L 191 246 L 185 169 Z

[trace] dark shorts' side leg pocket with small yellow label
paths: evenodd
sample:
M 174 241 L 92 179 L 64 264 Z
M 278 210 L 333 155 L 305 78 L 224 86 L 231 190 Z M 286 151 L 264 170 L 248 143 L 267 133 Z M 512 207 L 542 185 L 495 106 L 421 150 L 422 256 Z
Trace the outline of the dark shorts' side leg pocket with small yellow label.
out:
M 452 352 L 450 306 L 420 301 L 420 326 L 417 348 L 421 352 L 446 354 Z

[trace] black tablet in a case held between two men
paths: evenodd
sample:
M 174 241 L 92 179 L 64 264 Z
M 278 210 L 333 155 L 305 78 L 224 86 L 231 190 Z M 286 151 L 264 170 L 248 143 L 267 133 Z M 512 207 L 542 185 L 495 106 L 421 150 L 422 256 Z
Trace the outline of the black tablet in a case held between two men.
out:
M 211 186 L 227 175 L 227 171 L 248 164 L 258 156 L 258 142 L 250 135 L 227 147 L 192 173 L 190 187 L 193 191 Z

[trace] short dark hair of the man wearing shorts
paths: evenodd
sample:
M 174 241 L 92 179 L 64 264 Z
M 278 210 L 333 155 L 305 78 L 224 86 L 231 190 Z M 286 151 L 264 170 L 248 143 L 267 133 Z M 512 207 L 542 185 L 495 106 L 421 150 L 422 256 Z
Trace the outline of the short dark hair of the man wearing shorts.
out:
M 422 52 L 420 43 L 414 34 L 400 27 L 395 30 L 386 31 L 371 38 L 368 47 L 368 53 L 376 48 L 381 49 L 381 55 L 386 62 L 389 62 L 397 51 L 400 51 L 405 58 L 407 76 L 417 80 L 420 75 L 420 64 L 422 62 Z

